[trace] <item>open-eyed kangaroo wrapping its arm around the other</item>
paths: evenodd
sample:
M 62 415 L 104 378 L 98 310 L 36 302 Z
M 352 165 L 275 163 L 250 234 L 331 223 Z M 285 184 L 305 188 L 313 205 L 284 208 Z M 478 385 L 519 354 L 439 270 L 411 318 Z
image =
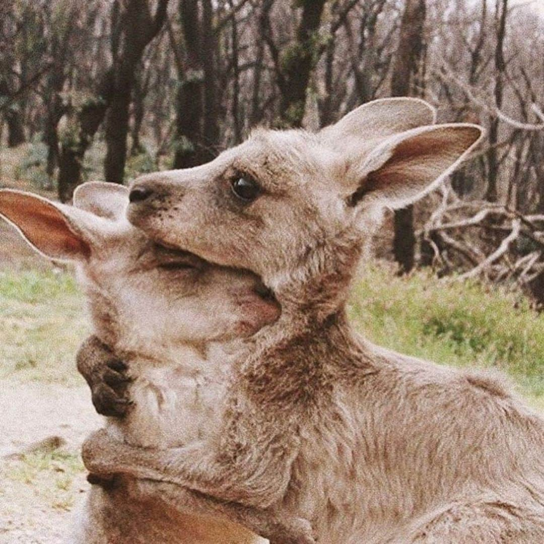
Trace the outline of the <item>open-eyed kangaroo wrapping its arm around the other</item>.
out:
M 381 209 L 436 187 L 481 138 L 434 121 L 421 100 L 374 101 L 133 183 L 134 225 L 251 270 L 281 316 L 245 342 L 211 437 L 159 451 L 97 431 L 91 471 L 304 518 L 320 544 L 544 542 L 544 420 L 500 380 L 377 347 L 346 317 Z

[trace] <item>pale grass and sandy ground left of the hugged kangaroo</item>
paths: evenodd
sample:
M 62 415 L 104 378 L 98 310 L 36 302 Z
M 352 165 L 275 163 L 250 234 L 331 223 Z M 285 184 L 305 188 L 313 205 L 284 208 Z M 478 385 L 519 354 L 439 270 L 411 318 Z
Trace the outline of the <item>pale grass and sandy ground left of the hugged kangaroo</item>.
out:
M 0 542 L 6 543 L 64 541 L 70 511 L 89 489 L 81 443 L 100 424 L 75 365 L 89 333 L 83 297 L 70 271 L 40 265 L 0 269 Z M 61 438 L 59 448 L 48 447 L 52 437 Z

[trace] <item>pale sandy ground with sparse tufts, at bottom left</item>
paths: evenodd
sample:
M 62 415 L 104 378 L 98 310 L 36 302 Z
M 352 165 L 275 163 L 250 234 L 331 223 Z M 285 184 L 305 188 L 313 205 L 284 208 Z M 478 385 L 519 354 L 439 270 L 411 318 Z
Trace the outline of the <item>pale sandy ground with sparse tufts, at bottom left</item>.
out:
M 77 460 L 79 448 L 100 424 L 86 387 L 0 384 L 0 542 L 62 542 L 73 508 L 89 489 Z M 69 455 L 71 468 L 62 458 L 51 460 L 51 451 L 49 457 L 30 454 L 30 466 L 17 455 L 50 437 L 65 441 L 54 452 Z

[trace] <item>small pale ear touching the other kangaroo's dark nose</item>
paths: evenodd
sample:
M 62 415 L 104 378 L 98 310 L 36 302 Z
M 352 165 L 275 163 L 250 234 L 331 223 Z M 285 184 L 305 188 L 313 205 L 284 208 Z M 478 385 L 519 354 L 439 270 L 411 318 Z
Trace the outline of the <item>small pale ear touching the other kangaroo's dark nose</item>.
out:
M 117 183 L 89 181 L 76 187 L 73 193 L 73 205 L 116 221 L 125 217 L 128 189 Z

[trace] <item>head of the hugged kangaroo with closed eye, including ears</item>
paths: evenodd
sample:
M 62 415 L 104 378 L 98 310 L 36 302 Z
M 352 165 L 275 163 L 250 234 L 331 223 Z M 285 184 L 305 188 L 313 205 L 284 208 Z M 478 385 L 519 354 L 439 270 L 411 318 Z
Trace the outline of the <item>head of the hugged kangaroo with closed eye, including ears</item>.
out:
M 98 333 L 156 354 L 168 346 L 247 336 L 279 310 L 255 274 L 151 242 L 125 219 L 128 190 L 85 183 L 74 206 L 0 190 L 0 215 L 41 254 L 78 263 Z

